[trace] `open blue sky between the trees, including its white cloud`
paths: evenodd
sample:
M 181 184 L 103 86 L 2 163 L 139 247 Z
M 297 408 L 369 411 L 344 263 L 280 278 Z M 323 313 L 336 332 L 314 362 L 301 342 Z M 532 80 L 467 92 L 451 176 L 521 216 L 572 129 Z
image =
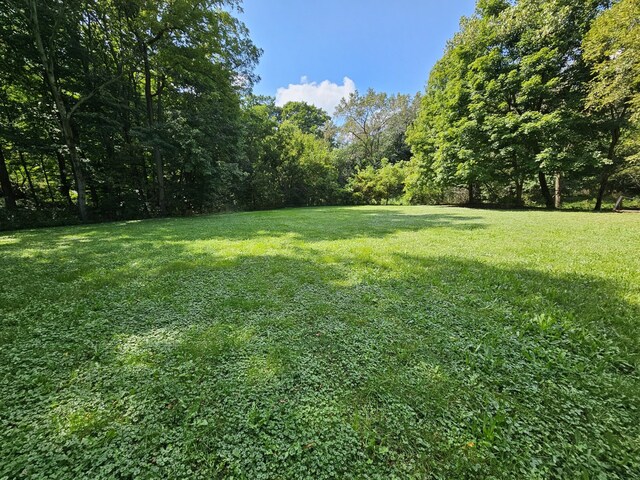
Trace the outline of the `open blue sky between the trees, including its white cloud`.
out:
M 460 17 L 472 14 L 474 5 L 475 0 L 244 0 L 241 18 L 264 50 L 255 93 L 330 109 L 355 88 L 422 91 Z

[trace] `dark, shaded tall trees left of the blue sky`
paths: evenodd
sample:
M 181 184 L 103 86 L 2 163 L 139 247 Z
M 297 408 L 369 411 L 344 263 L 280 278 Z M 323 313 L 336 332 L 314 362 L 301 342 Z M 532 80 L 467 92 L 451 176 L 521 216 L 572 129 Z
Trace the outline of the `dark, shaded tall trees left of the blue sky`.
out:
M 18 207 L 127 218 L 237 203 L 240 97 L 260 55 L 239 4 L 0 0 L 0 148 Z

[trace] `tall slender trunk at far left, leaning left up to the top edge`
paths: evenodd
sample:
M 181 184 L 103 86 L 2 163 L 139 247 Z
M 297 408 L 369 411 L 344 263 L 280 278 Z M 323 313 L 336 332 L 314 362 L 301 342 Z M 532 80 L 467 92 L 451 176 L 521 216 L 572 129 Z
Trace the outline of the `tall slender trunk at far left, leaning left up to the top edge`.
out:
M 36 48 L 42 62 L 42 67 L 45 73 L 45 80 L 49 85 L 51 96 L 58 111 L 58 121 L 64 136 L 65 144 L 69 150 L 69 159 L 76 172 L 76 190 L 78 191 L 78 212 L 80 213 L 80 219 L 82 221 L 87 220 L 87 203 L 85 196 L 85 181 L 82 173 L 82 165 L 78 157 L 78 149 L 76 145 L 75 135 L 71 127 L 71 119 L 67 107 L 62 98 L 62 93 L 58 89 L 58 81 L 56 78 L 55 70 L 53 68 L 53 60 L 47 55 L 42 42 L 42 36 L 40 34 L 40 23 L 38 21 L 38 7 L 36 0 L 29 0 L 29 17 L 31 20 L 31 26 L 33 30 L 33 36 L 36 43 Z

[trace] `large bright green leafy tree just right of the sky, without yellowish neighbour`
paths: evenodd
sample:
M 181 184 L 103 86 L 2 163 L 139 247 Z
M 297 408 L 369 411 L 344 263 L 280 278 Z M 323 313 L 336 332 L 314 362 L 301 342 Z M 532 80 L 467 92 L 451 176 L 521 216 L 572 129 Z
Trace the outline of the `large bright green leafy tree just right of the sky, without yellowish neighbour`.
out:
M 428 180 L 482 187 L 522 204 L 547 178 L 595 175 L 606 125 L 584 114 L 590 71 L 580 46 L 607 2 L 479 2 L 431 73 L 409 143 Z

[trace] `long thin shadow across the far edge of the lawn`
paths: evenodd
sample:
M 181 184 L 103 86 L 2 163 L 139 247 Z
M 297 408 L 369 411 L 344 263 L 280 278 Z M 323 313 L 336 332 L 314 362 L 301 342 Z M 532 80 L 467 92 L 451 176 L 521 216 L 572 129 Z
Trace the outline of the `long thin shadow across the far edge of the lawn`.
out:
M 52 228 L 6 236 L 7 245 L 29 246 L 43 236 L 54 245 L 68 245 L 73 237 L 84 243 L 149 241 L 250 240 L 264 236 L 294 236 L 305 242 L 351 238 L 383 238 L 399 231 L 428 228 L 474 230 L 483 228 L 481 217 L 453 213 L 407 214 L 406 208 L 339 207 L 299 208 L 210 215 L 196 218 L 129 221 L 73 228 Z M 188 228 L 185 228 L 188 226 Z M 73 234 L 69 234 L 72 231 Z M 2 240 L 2 237 L 0 237 Z M 0 242 L 0 248 L 3 243 Z

